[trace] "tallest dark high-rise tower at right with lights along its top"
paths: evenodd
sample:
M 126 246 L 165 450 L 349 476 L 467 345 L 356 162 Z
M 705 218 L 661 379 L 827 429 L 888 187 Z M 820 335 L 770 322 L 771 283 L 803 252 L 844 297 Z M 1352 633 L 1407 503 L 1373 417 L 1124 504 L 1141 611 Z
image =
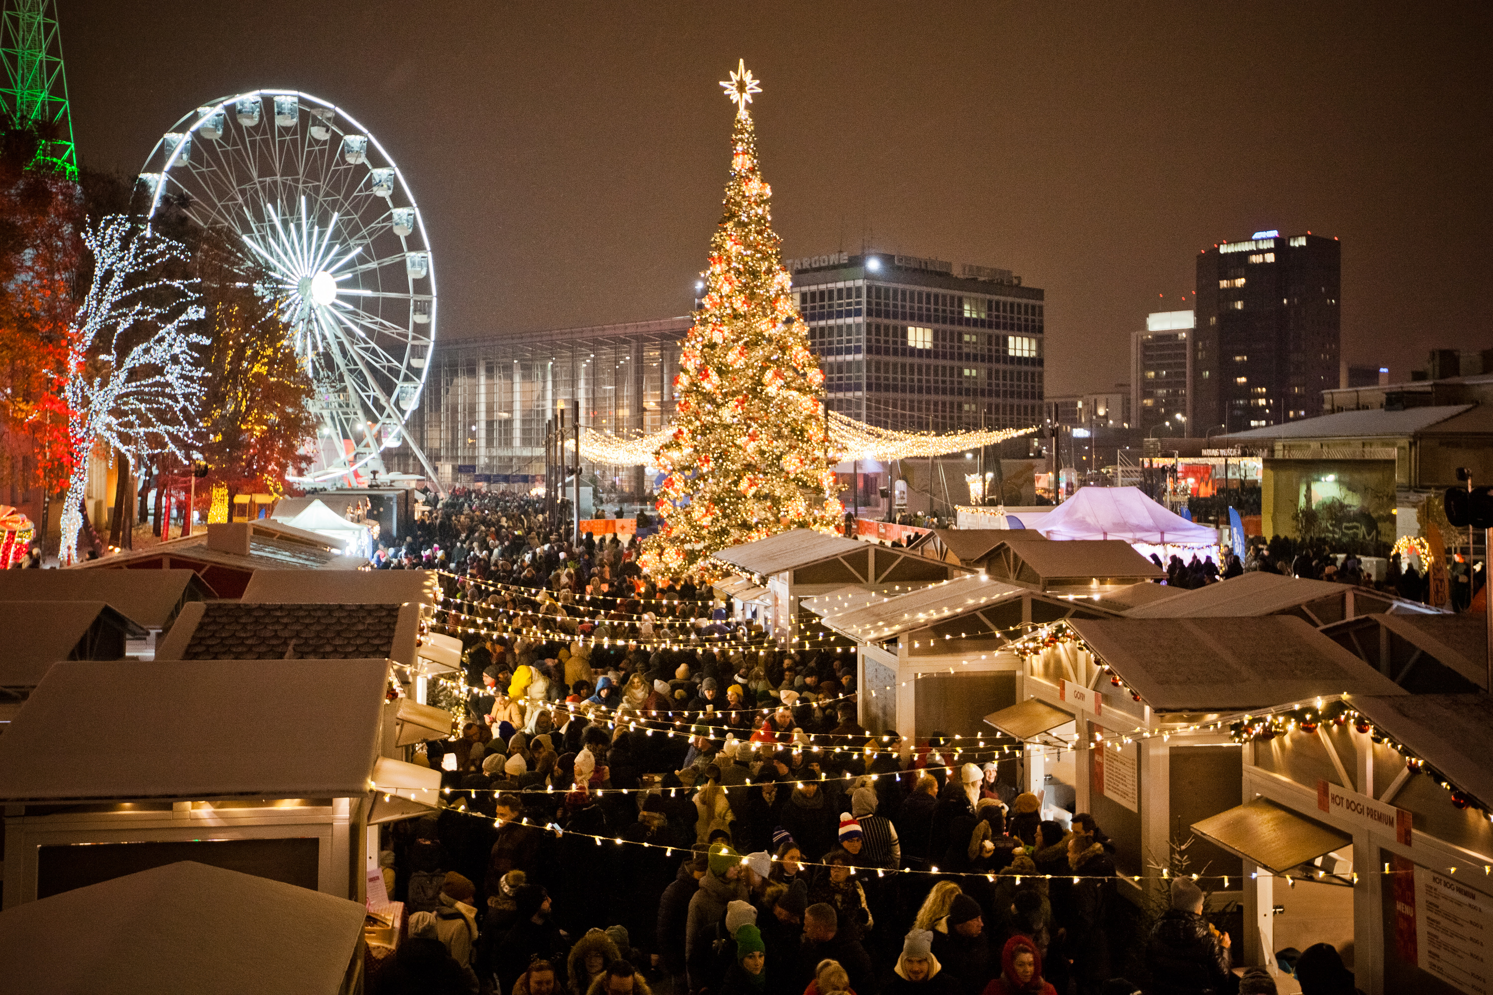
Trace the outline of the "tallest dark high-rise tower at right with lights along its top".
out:
M 1197 257 L 1188 431 L 1241 431 L 1321 413 L 1338 383 L 1336 239 L 1256 231 Z

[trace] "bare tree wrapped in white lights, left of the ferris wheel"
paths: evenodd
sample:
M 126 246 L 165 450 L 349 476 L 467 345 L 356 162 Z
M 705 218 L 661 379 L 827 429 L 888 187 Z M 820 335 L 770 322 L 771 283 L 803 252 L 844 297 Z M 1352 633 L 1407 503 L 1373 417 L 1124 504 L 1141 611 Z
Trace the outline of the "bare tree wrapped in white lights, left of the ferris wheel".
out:
M 185 459 L 196 431 L 194 403 L 208 376 L 194 349 L 208 340 L 188 331 L 203 316 L 196 280 L 161 274 L 187 260 L 185 248 L 121 215 L 85 228 L 82 240 L 94 273 L 67 330 L 61 373 L 72 448 L 63 562 L 76 555 L 94 442 L 124 452 L 131 470 L 164 452 Z

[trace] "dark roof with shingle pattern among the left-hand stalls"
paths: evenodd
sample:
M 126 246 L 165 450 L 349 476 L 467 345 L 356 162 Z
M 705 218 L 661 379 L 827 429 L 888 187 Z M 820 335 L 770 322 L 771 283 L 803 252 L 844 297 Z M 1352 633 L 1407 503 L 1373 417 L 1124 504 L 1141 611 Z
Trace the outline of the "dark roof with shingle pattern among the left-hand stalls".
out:
M 396 646 L 400 607 L 212 601 L 182 612 L 155 658 L 411 662 L 409 653 Z M 414 630 L 408 635 L 414 638 Z

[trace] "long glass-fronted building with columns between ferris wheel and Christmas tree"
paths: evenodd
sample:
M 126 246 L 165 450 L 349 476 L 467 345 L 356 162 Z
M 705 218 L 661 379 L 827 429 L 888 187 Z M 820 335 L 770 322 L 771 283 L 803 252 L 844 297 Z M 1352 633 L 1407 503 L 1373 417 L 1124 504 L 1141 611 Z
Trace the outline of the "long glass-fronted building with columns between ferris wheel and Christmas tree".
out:
M 681 316 L 443 345 L 406 433 L 443 483 L 488 476 L 537 483 L 560 409 L 567 425 L 579 407 L 584 428 L 617 436 L 655 433 L 673 419 L 679 343 L 691 324 Z M 387 462 L 421 471 L 405 446 Z M 642 489 L 640 467 L 584 468 L 624 491 Z

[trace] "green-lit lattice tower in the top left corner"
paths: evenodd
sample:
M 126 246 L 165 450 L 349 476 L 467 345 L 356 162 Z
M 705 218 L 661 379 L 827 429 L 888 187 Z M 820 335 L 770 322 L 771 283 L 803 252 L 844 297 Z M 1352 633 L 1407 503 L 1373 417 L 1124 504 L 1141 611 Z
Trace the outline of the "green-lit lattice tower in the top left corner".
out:
M 57 0 L 3 0 L 0 13 L 0 104 L 16 124 L 36 124 L 43 142 L 36 155 L 69 176 L 78 175 L 73 116 L 67 109 L 63 39 Z

